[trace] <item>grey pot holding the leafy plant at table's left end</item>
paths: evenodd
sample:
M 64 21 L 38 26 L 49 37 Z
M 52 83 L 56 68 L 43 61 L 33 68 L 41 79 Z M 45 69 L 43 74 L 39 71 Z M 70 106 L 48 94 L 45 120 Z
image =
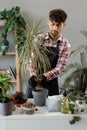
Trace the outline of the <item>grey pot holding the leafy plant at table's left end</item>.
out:
M 8 103 L 0 103 L 0 115 L 8 116 L 12 114 L 13 103 L 10 101 Z

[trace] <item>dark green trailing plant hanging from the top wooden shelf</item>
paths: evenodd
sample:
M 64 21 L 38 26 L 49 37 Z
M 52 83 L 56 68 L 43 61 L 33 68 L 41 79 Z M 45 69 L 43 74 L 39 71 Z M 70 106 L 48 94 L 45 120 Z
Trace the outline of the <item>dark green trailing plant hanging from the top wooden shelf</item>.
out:
M 12 7 L 11 10 L 4 9 L 0 12 L 0 20 L 6 20 L 4 31 L 1 33 L 1 51 L 2 55 L 5 55 L 8 48 L 9 48 L 9 41 L 8 41 L 8 32 L 13 33 L 13 37 L 15 37 L 15 26 L 18 28 L 16 29 L 16 36 L 19 35 L 22 38 L 22 41 L 19 39 L 19 43 L 22 45 L 24 44 L 25 36 L 20 31 L 20 28 L 26 29 L 26 22 L 20 13 L 20 7 Z M 14 43 L 15 39 L 14 39 Z M 19 44 L 18 44 L 19 46 Z

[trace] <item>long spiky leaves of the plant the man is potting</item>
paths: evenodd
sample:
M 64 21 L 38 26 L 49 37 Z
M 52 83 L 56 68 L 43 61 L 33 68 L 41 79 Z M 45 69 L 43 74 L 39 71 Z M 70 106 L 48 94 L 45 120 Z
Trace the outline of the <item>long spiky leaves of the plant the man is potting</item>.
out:
M 41 38 L 38 35 L 43 33 L 43 27 L 42 27 L 43 20 L 44 19 L 41 18 L 38 21 L 31 23 L 25 19 L 26 30 L 21 29 L 21 31 L 23 30 L 24 35 L 26 37 L 25 44 L 23 44 L 18 48 L 20 65 L 23 75 L 26 73 L 29 75 L 28 69 L 26 69 L 26 65 L 28 67 L 30 62 L 29 59 L 31 58 L 31 52 L 34 53 L 34 68 L 36 68 L 37 75 L 40 75 L 42 73 L 42 67 L 41 67 L 42 65 L 44 66 L 43 67 L 44 72 L 46 72 L 47 69 L 50 68 L 50 63 L 46 55 L 48 49 L 44 46 L 43 37 Z M 18 42 L 18 39 L 21 39 L 21 37 L 17 36 L 16 42 Z

